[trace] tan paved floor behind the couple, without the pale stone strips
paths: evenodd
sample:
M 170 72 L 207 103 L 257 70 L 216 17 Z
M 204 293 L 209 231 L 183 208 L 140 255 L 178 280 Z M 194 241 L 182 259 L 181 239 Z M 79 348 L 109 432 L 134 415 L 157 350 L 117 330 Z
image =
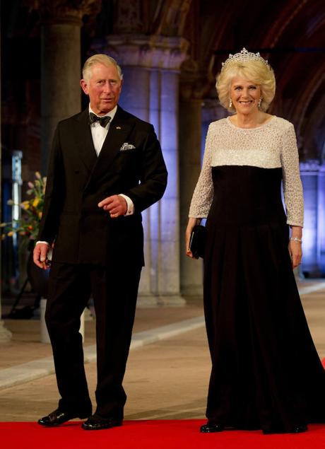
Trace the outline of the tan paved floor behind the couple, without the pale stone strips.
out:
M 314 282 L 300 285 L 302 291 Z M 321 285 L 318 284 L 318 287 Z M 317 287 L 316 287 L 317 288 Z M 310 290 L 310 288 L 309 288 Z M 325 284 L 302 294 L 310 330 L 321 358 L 325 358 Z M 170 323 L 199 317 L 199 299 L 183 308 L 138 309 L 134 332 L 155 330 Z M 0 369 L 49 356 L 48 344 L 39 342 L 39 322 L 9 320 L 13 341 L 0 346 Z M 94 344 L 94 323 L 85 323 L 85 345 Z M 203 418 L 210 372 L 210 357 L 204 327 L 177 333 L 168 339 L 130 352 L 124 387 L 128 395 L 126 419 Z M 86 365 L 92 397 L 95 390 L 95 363 Z M 1 421 L 33 421 L 57 406 L 54 375 L 32 380 L 0 391 Z

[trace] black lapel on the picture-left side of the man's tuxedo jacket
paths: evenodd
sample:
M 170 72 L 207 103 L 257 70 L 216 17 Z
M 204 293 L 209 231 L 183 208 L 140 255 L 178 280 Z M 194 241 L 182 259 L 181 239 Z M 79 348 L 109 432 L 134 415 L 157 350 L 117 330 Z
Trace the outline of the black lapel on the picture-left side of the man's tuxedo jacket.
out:
M 93 137 L 91 135 L 89 121 L 88 121 L 89 110 L 88 108 L 81 112 L 78 117 L 76 117 L 76 126 L 73 129 L 78 156 L 81 158 L 85 166 L 91 172 L 98 160 L 95 147 L 93 144 Z

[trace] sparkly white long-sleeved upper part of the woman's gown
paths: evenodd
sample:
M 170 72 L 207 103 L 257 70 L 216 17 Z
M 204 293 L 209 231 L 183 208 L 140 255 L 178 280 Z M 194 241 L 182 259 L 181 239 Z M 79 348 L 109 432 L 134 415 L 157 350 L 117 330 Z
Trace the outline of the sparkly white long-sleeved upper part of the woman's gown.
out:
M 297 141 L 293 124 L 274 116 L 257 128 L 239 128 L 229 117 L 212 122 L 199 180 L 194 189 L 189 216 L 206 218 L 213 199 L 211 166 L 252 165 L 280 168 L 287 223 L 303 226 L 304 205 L 300 180 Z

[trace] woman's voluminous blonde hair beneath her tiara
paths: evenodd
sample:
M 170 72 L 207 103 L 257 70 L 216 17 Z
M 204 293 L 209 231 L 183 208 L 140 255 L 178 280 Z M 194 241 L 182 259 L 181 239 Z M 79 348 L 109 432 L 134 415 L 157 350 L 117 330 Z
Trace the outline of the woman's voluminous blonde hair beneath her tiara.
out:
M 232 79 L 236 76 L 246 78 L 247 81 L 252 81 L 258 84 L 261 88 L 261 105 L 259 109 L 266 111 L 276 93 L 276 78 L 273 69 L 263 61 L 251 59 L 247 61 L 230 61 L 217 76 L 218 97 L 221 105 L 229 112 L 234 112 L 235 107 L 230 107 L 230 86 Z

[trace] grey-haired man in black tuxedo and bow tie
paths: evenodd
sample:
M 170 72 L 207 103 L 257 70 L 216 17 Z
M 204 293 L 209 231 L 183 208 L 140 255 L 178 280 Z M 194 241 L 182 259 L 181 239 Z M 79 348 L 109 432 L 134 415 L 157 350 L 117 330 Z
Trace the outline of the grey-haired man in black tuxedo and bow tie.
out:
M 122 71 L 95 54 L 83 66 L 90 104 L 62 120 L 49 158 L 34 262 L 54 243 L 45 319 L 61 399 L 42 426 L 88 418 L 85 430 L 122 425 L 122 380 L 143 267 L 141 211 L 162 197 L 167 170 L 153 126 L 117 105 Z M 81 313 L 93 295 L 98 385 L 92 415 L 83 366 Z

